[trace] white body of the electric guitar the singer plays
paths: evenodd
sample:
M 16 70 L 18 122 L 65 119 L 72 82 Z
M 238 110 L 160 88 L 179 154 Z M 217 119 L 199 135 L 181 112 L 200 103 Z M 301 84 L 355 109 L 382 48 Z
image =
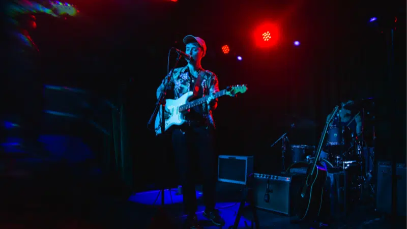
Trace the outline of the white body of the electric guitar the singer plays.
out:
M 193 92 L 187 92 L 178 99 L 166 99 L 165 107 L 171 112 L 168 119 L 165 120 L 165 131 L 167 131 L 171 126 L 180 126 L 185 123 L 184 115 L 179 111 L 181 105 L 188 102 L 189 97 L 193 95 Z M 162 119 L 162 109 L 158 111 L 156 117 L 156 122 L 154 124 L 156 134 L 161 134 L 161 119 Z

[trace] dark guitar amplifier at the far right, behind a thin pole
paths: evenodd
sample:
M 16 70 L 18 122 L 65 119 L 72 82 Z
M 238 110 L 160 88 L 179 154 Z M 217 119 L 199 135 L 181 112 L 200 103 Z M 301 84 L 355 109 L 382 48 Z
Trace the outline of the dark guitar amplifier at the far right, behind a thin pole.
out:
M 392 170 L 391 161 L 379 161 L 377 166 L 376 209 L 383 213 L 391 213 L 392 202 Z M 406 209 L 406 165 L 396 164 L 397 177 L 397 215 L 405 216 Z

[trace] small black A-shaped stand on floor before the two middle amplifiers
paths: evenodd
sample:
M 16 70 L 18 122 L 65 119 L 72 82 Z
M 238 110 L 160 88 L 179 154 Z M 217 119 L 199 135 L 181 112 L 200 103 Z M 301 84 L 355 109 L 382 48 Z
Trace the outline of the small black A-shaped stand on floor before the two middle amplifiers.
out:
M 256 208 L 254 207 L 254 195 L 253 195 L 253 188 L 251 185 L 252 176 L 253 176 L 253 174 L 250 174 L 249 179 L 248 179 L 248 183 L 250 184 L 251 187 L 249 187 L 249 185 L 246 184 L 245 188 L 242 191 L 242 194 L 243 194 L 242 201 L 240 202 L 240 205 L 239 205 L 239 210 L 236 215 L 235 223 L 233 225 L 229 226 L 228 229 L 238 229 L 240 218 L 242 217 L 243 210 L 244 210 L 245 204 L 247 202 L 249 202 L 250 208 L 253 213 L 253 219 L 251 220 L 251 228 L 254 228 L 253 225 L 255 225 L 256 229 L 260 229 L 260 224 L 258 223 L 258 218 L 257 218 L 257 211 L 256 211 Z

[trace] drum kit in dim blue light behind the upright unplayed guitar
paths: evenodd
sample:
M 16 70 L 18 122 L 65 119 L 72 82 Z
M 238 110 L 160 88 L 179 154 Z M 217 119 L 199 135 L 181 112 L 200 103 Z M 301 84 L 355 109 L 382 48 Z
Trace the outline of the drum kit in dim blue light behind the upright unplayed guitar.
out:
M 362 193 L 365 182 L 370 180 L 373 170 L 375 138 L 373 108 L 372 98 L 342 105 L 342 109 L 354 114 L 351 116 L 353 118 L 347 122 L 341 122 L 341 117 L 339 113 L 337 114 L 329 124 L 323 150 L 319 156 L 319 161 L 325 162 L 328 173 L 344 171 L 347 176 L 350 176 L 348 187 L 359 194 Z M 359 135 L 356 134 L 356 130 L 351 130 L 349 125 L 355 123 L 357 117 L 359 117 L 358 121 L 361 119 L 362 122 L 362 131 Z M 284 137 L 286 135 L 287 133 Z M 285 142 L 282 141 L 282 143 Z M 301 167 L 314 160 L 315 146 L 291 145 L 289 148 L 288 156 L 292 159 L 289 168 Z M 288 169 L 284 172 L 288 172 Z

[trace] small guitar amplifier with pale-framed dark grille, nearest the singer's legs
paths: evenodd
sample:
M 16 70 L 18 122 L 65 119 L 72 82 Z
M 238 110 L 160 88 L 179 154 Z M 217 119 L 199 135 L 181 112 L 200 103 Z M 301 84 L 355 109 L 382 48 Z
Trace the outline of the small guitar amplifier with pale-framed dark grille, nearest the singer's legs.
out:
M 246 185 L 253 173 L 253 156 L 219 155 L 218 181 Z

